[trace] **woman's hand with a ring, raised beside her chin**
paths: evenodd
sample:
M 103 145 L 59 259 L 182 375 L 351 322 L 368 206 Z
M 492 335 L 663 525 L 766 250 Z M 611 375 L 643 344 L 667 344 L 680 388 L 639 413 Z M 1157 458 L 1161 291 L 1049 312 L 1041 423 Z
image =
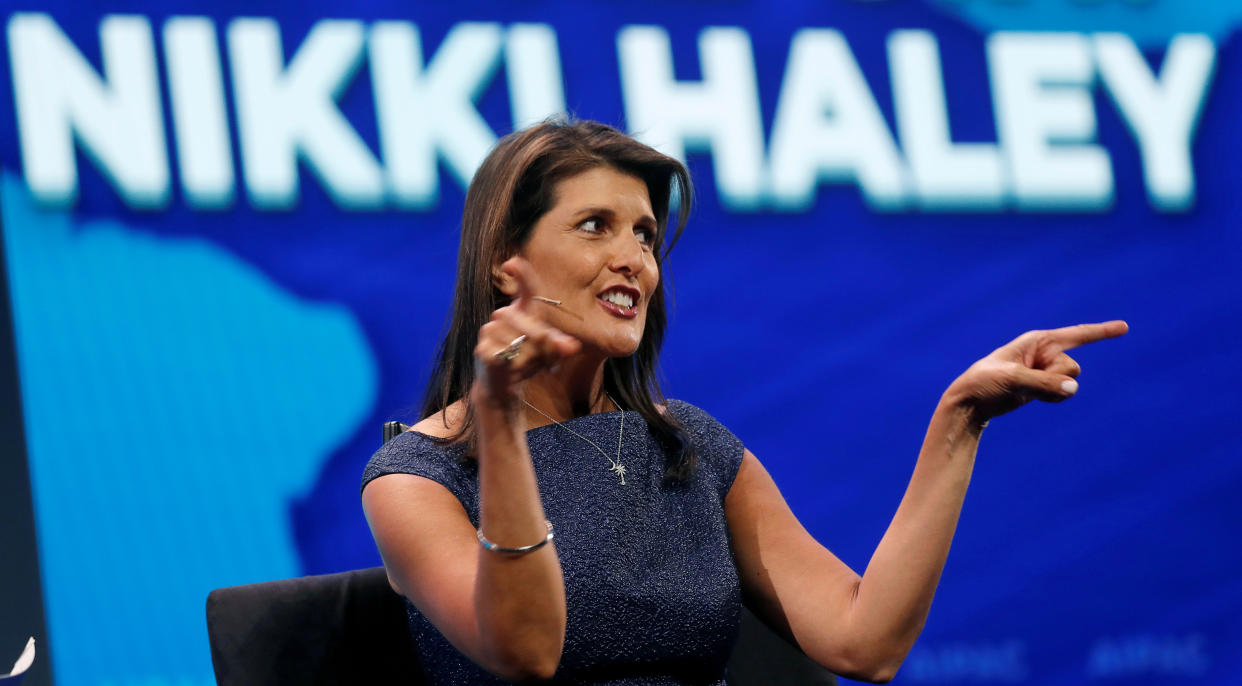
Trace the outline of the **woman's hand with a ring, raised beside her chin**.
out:
M 582 345 L 537 312 L 537 277 L 529 262 L 514 256 L 501 265 L 501 271 L 513 277 L 518 295 L 513 302 L 493 312 L 492 319 L 478 329 L 472 395 L 474 401 L 491 406 L 513 408 L 518 401 L 518 384 L 554 368 Z M 525 338 L 514 345 L 522 336 Z M 508 355 L 509 359 L 498 354 L 510 347 L 517 350 Z

